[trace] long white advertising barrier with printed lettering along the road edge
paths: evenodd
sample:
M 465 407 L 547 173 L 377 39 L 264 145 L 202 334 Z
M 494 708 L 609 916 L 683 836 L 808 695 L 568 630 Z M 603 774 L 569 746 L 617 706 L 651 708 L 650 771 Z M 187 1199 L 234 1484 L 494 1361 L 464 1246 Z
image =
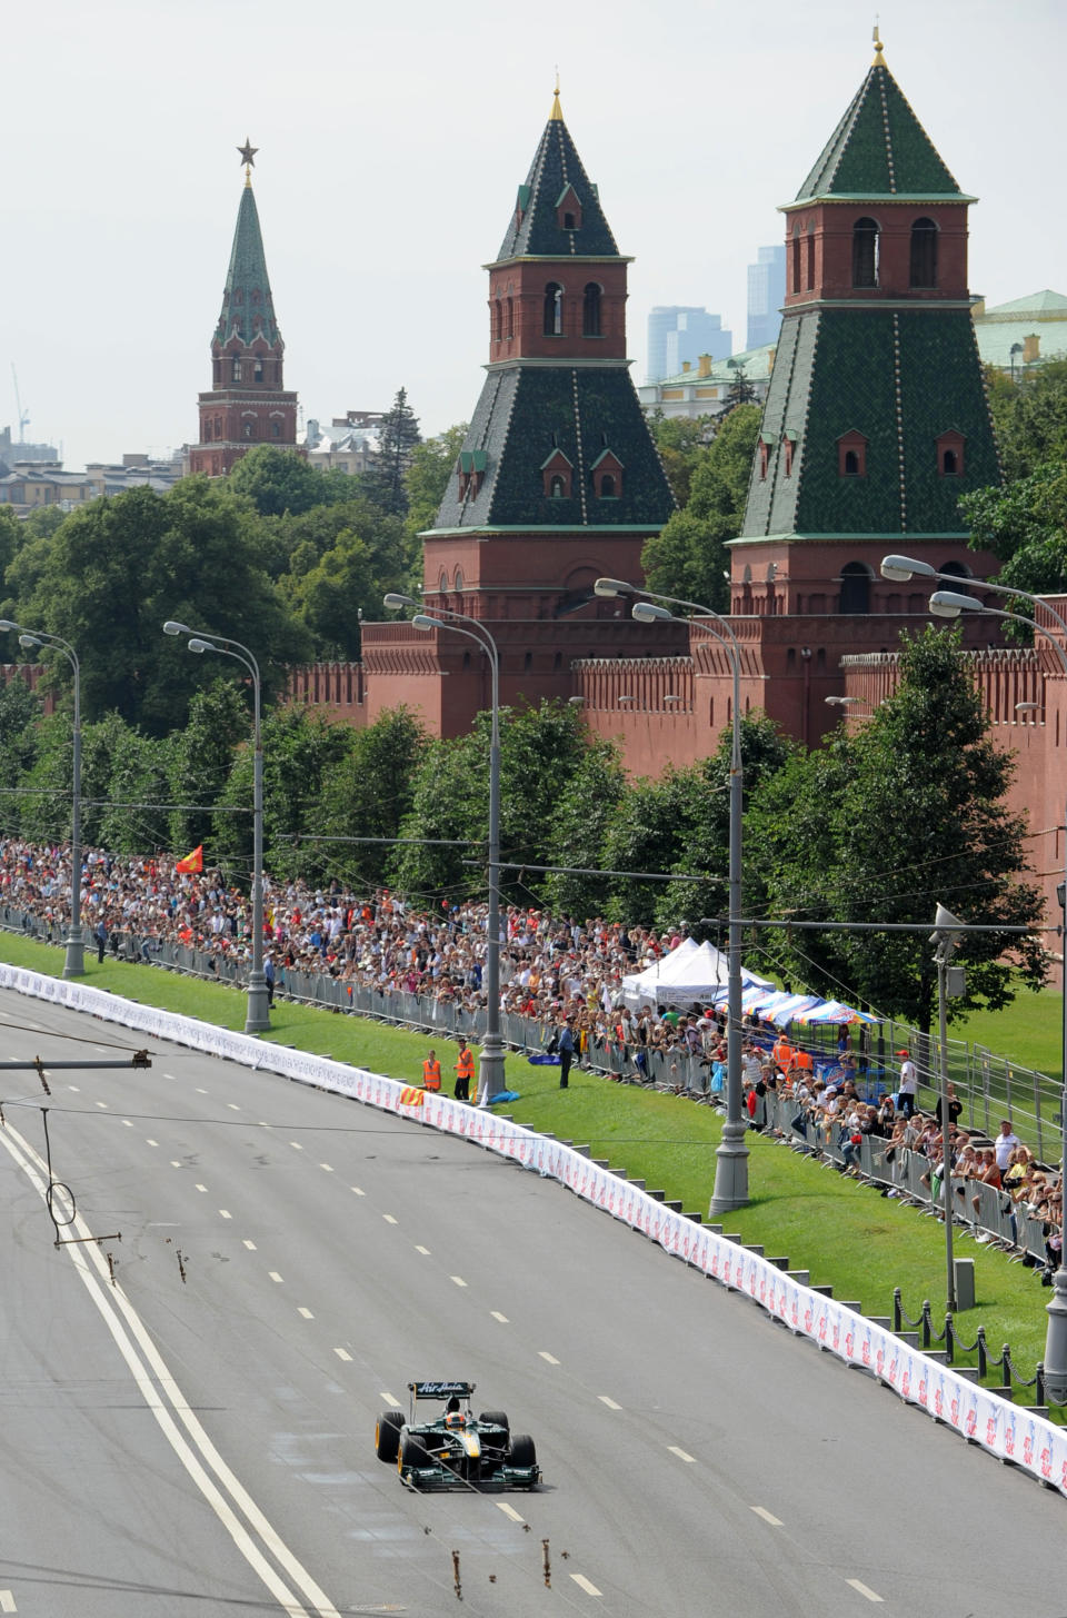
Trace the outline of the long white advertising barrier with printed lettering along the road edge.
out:
M 1067 1493 L 1067 1429 L 1030 1416 L 1009 1400 L 978 1388 L 949 1366 L 939 1366 L 918 1349 L 907 1348 L 884 1327 L 808 1286 L 800 1286 L 766 1259 L 666 1209 L 647 1191 L 627 1184 L 606 1168 L 598 1168 L 582 1152 L 559 1141 L 546 1139 L 506 1118 L 495 1118 L 480 1107 L 467 1107 L 441 1094 L 417 1092 L 419 1103 L 406 1105 L 401 1100 L 404 1092 L 409 1095 L 415 1092 L 396 1079 L 386 1079 L 364 1068 L 349 1068 L 327 1057 L 286 1050 L 283 1045 L 247 1034 L 231 1034 L 209 1023 L 142 1006 L 82 984 L 42 977 L 0 963 L 0 989 L 15 989 L 73 1011 L 87 1011 L 105 1021 L 121 1023 L 157 1039 L 239 1061 L 242 1066 L 264 1068 L 302 1084 L 349 1095 L 509 1157 L 524 1168 L 567 1186 L 585 1202 L 642 1231 L 664 1252 L 692 1264 L 711 1280 L 745 1293 L 797 1336 L 807 1336 L 847 1364 L 870 1370 L 902 1400 L 928 1411 L 972 1443 Z

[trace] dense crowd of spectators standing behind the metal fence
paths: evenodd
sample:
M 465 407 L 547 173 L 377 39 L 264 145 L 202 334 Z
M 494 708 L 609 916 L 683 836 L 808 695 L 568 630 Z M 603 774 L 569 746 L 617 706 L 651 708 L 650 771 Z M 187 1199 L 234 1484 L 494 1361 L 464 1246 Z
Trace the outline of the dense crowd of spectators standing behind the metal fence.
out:
M 70 848 L 0 840 L 0 904 L 37 916 L 58 940 L 70 900 Z M 150 959 L 160 945 L 178 943 L 202 951 L 215 968 L 223 959 L 241 966 L 251 959 L 247 895 L 226 883 L 218 869 L 179 872 L 163 856 L 129 859 L 86 849 L 81 911 L 86 938 L 100 953 L 118 953 L 133 942 L 136 953 Z M 579 1066 L 613 1048 L 621 1076 L 715 1103 L 726 1087 L 724 1008 L 694 1006 L 684 1013 L 622 1003 L 622 977 L 668 955 L 682 938 L 684 930 L 627 927 L 600 917 L 579 922 L 511 904 L 501 911 L 501 1010 L 538 1023 L 545 1044 L 569 1027 Z M 285 993 L 288 974 L 325 972 L 349 984 L 430 997 L 474 1014 L 485 1003 L 487 906 L 467 900 L 427 909 L 388 888 L 367 896 L 336 880 L 314 887 L 265 877 L 264 951 L 273 992 Z M 760 1026 L 758 1016 L 745 1021 L 744 1095 L 755 1128 L 766 1125 L 766 1097 L 786 1097 L 794 1134 L 812 1150 L 833 1142 L 846 1173 L 858 1173 L 862 1141 L 875 1136 L 888 1142 L 892 1155 L 922 1155 L 926 1183 L 936 1192 L 944 1171 L 941 1105 L 933 1115 L 917 1110 L 917 1071 L 909 1052 L 899 1052 L 894 1092 L 871 1100 L 860 1094 L 847 1029 L 836 1057 L 820 1053 L 816 1060 L 770 1024 Z M 689 1060 L 673 1061 L 673 1055 Z M 698 1086 L 692 1084 L 694 1069 L 702 1073 Z M 1059 1176 L 1035 1162 L 1010 1123 L 989 1141 L 960 1128 L 959 1116 L 960 1103 L 951 1095 L 954 1186 L 994 1186 L 1046 1220 L 1049 1260 L 1057 1262 Z

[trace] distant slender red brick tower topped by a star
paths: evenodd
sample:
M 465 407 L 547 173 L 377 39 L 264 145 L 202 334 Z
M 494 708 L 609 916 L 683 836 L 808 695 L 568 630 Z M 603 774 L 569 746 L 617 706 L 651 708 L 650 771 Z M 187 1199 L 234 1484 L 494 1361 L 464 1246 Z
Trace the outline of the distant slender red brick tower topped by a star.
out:
M 275 320 L 252 194 L 257 147 L 239 146 L 244 191 L 223 306 L 212 338 L 212 392 L 200 393 L 200 442 L 189 471 L 221 477 L 255 443 L 296 447 L 296 393 L 283 392 L 285 343 Z

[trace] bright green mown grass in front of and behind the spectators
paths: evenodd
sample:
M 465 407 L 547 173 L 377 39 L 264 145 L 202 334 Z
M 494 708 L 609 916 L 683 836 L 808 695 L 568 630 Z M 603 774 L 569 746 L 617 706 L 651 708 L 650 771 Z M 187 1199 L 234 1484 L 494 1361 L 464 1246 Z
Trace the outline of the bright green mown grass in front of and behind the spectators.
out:
M 0 959 L 50 976 L 63 969 L 60 948 L 11 934 L 0 934 Z M 94 955 L 86 958 L 84 981 L 221 1027 L 244 1026 L 244 995 L 220 984 L 112 959 L 97 964 Z M 1046 1000 L 1056 1002 L 1051 1014 Z M 1059 1037 L 1051 1034 L 1051 1024 L 1059 1027 L 1062 1002 L 1051 995 L 1035 995 L 1030 1002 L 1022 1000 L 997 1014 L 996 1029 L 1001 1040 L 1012 1044 L 1014 1053 L 1014 1027 L 1018 1026 L 1020 1044 L 1027 1029 L 1033 1061 L 1048 1073 L 1048 1053 Z M 954 1032 L 993 1044 L 991 1037 L 964 1027 Z M 275 1002 L 267 1037 L 409 1082 L 419 1079 L 422 1058 L 435 1044 L 406 1029 L 289 1002 Z M 451 1089 L 458 1047 L 438 1040 L 435 1048 Z M 571 1073 L 569 1091 L 561 1091 L 558 1068 L 530 1066 L 517 1055 L 508 1057 L 506 1074 L 508 1086 L 521 1092 L 521 1100 L 508 1103 L 517 1123 L 588 1144 L 593 1155 L 606 1158 L 613 1168 L 706 1215 L 721 1128 L 711 1108 L 579 1069 Z M 749 1147 L 752 1202 L 728 1215 L 728 1231 L 747 1243 L 761 1243 L 768 1256 L 786 1254 L 792 1269 L 810 1270 L 812 1281 L 831 1285 L 837 1298 L 858 1301 L 867 1314 L 891 1314 L 892 1290 L 900 1286 L 912 1315 L 918 1314 L 923 1298 L 930 1298 L 934 1322 L 943 1317 L 946 1251 L 939 1223 L 761 1136 L 749 1134 Z M 955 1246 L 957 1256 L 975 1260 L 978 1298 L 976 1309 L 959 1320 L 962 1335 L 973 1340 L 976 1327 L 985 1325 L 991 1351 L 999 1353 L 1002 1343 L 1010 1343 L 1018 1370 L 1033 1374 L 1044 1353 L 1044 1304 L 1051 1293 L 1038 1285 L 1031 1270 L 1009 1264 L 1002 1254 L 976 1246 L 962 1233 Z

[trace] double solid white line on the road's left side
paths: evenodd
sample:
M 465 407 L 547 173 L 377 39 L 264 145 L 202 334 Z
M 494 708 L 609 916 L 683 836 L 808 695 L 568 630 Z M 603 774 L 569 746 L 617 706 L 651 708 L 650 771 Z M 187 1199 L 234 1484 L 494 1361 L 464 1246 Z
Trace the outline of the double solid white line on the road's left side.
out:
M 48 1165 L 40 1154 L 11 1125 L 0 1133 L 0 1146 L 19 1165 L 44 1201 L 47 1196 L 44 1176 L 48 1173 Z M 95 1236 L 86 1220 L 81 1214 L 76 1214 L 71 1223 L 82 1241 L 78 1244 L 71 1243 L 63 1251 L 84 1281 L 163 1437 L 212 1511 L 215 1511 L 233 1544 L 288 1618 L 341 1618 L 325 1590 L 312 1579 L 307 1568 L 297 1561 L 236 1474 L 220 1456 L 149 1336 L 141 1315 L 126 1298 L 123 1288 L 116 1286 L 108 1275 L 107 1260 L 97 1251 Z M 181 1430 L 183 1427 L 184 1432 Z M 210 1476 L 212 1472 L 215 1474 L 213 1477 Z M 238 1513 L 244 1514 L 244 1521 Z M 302 1590 L 299 1599 L 285 1579 L 280 1578 L 268 1557 L 273 1557 L 288 1579 Z M 304 1605 L 304 1602 L 309 1605 Z

